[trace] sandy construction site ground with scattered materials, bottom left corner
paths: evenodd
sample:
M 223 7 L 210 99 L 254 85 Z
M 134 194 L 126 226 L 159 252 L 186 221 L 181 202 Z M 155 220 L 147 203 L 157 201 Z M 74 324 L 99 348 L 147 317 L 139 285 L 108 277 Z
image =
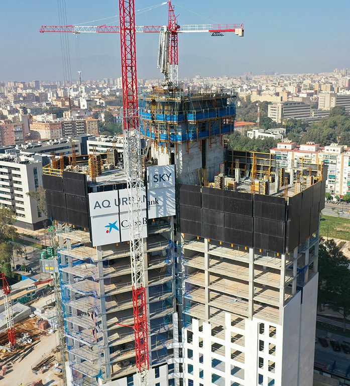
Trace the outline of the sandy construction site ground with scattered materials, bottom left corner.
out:
M 16 325 L 17 336 L 27 333 L 32 343 L 27 343 L 9 353 L 2 350 L 0 361 L 5 362 L 7 371 L 5 376 L 0 376 L 0 386 L 29 386 L 32 382 L 42 379 L 45 386 L 61 386 L 62 380 L 59 372 L 52 367 L 59 361 L 57 350 L 58 334 L 49 331 L 40 331 L 36 326 L 37 318 L 29 318 Z M 7 343 L 7 332 L 0 334 L 0 345 Z M 33 367 L 43 362 L 49 362 L 48 369 L 33 372 Z M 42 368 L 42 365 L 40 365 Z

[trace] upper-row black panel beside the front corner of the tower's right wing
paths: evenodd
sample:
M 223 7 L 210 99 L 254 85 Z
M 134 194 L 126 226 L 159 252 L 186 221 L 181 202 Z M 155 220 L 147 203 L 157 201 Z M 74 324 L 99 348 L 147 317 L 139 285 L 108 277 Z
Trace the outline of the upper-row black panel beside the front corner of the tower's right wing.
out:
M 286 201 L 283 197 L 254 196 L 254 217 L 285 221 Z

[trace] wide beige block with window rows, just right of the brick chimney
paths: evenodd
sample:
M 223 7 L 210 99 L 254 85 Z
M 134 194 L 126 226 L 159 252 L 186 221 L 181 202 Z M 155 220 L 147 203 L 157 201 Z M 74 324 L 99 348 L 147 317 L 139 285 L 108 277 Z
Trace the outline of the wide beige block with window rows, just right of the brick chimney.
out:
M 302 102 L 273 103 L 268 107 L 268 117 L 277 123 L 286 119 L 304 119 L 311 117 L 311 104 Z

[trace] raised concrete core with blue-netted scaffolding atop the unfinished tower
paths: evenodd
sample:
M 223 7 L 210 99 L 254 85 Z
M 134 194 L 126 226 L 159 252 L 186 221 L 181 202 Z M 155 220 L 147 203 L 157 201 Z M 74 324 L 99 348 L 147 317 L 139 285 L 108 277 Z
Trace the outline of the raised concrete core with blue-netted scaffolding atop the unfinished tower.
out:
M 151 143 L 152 162 L 176 164 L 178 182 L 212 179 L 224 162 L 223 136 L 234 130 L 235 98 L 224 90 L 185 92 L 170 85 L 144 92 L 141 132 Z

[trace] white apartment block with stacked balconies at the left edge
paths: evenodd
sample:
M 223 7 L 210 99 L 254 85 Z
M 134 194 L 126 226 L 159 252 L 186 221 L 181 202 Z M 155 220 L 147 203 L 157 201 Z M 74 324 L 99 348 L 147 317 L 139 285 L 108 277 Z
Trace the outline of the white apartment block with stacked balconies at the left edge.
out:
M 0 205 L 14 210 L 16 225 L 39 229 L 46 219 L 37 203 L 27 193 L 42 186 L 41 157 L 0 156 Z

